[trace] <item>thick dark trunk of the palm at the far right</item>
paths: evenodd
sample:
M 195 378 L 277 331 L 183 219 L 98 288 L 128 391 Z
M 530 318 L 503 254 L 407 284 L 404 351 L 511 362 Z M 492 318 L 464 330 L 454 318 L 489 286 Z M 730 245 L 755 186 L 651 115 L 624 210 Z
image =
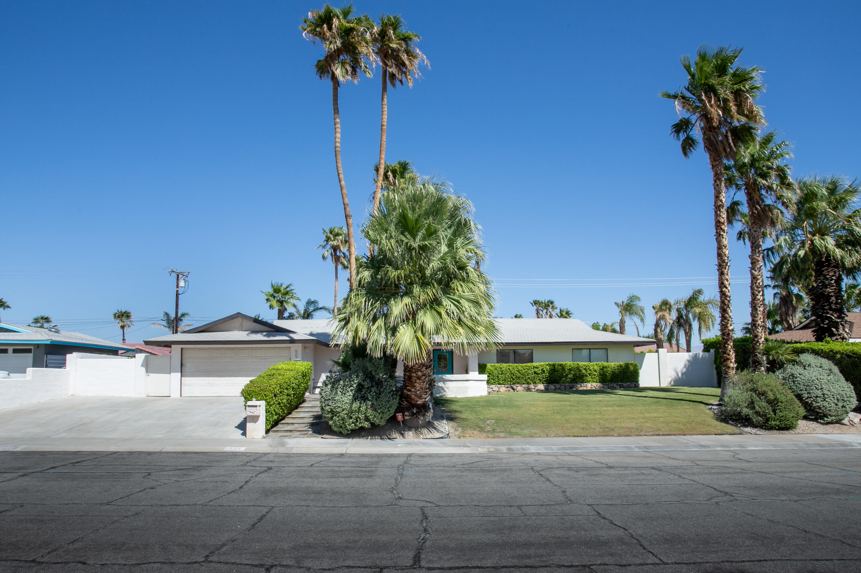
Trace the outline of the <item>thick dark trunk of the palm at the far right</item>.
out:
M 849 330 L 843 306 L 843 274 L 839 264 L 831 256 L 825 256 L 815 262 L 813 272 L 810 315 L 816 317 L 813 330 L 816 342 L 823 342 L 826 338 L 846 342 L 849 340 Z

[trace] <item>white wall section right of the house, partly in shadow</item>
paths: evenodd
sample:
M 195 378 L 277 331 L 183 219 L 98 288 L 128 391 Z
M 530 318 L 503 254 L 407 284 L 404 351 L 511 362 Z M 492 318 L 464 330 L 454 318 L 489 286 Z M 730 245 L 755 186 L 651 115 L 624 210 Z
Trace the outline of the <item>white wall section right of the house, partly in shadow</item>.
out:
M 658 352 L 637 354 L 641 386 L 717 385 L 715 354 L 710 352 Z

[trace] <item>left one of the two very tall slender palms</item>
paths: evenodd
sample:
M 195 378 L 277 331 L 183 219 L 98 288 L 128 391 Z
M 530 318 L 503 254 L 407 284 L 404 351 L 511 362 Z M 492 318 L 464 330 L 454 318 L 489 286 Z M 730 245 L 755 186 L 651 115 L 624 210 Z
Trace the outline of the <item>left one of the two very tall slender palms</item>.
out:
M 347 200 L 347 185 L 344 183 L 344 170 L 341 169 L 341 114 L 338 109 L 338 89 L 341 82 L 358 83 L 359 74 L 371 76 L 368 60 L 374 57 L 371 51 L 369 34 L 374 28 L 367 15 L 353 15 L 353 5 L 344 4 L 342 8 L 332 8 L 325 4 L 323 9 L 308 12 L 302 18 L 300 30 L 306 40 L 319 42 L 325 51 L 323 58 L 317 60 L 314 70 L 317 77 L 331 81 L 331 108 L 335 122 L 335 169 L 338 171 L 338 185 L 341 187 L 341 201 L 344 203 L 344 219 L 347 224 L 347 250 L 350 255 L 350 288 L 356 276 L 356 241 L 353 240 L 353 215 L 350 201 Z

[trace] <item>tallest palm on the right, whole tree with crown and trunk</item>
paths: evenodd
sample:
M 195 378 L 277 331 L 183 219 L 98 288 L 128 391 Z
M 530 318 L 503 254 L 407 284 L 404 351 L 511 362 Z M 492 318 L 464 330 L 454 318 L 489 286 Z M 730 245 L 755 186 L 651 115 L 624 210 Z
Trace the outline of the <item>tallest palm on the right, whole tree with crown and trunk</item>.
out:
M 726 189 L 723 162 L 732 161 L 738 146 L 753 139 L 756 129 L 765 124 L 756 98 L 765 89 L 759 82 L 758 67 L 735 65 L 742 48 L 700 46 L 697 58 L 682 56 L 687 83 L 661 97 L 676 103 L 679 120 L 672 125 L 672 136 L 681 142 L 684 157 L 691 157 L 700 139 L 709 156 L 714 188 L 715 243 L 717 279 L 721 298 L 721 371 L 724 380 L 735 373 L 732 302 L 729 293 L 729 244 L 727 241 Z M 722 390 L 723 391 L 723 390 Z

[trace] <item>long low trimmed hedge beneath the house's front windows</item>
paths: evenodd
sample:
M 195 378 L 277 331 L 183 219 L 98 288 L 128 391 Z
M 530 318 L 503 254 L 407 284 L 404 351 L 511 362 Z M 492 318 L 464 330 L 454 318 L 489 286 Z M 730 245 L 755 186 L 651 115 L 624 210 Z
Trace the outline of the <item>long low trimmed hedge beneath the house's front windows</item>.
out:
M 636 362 L 487 364 L 485 372 L 489 385 L 640 383 L 640 367 Z

